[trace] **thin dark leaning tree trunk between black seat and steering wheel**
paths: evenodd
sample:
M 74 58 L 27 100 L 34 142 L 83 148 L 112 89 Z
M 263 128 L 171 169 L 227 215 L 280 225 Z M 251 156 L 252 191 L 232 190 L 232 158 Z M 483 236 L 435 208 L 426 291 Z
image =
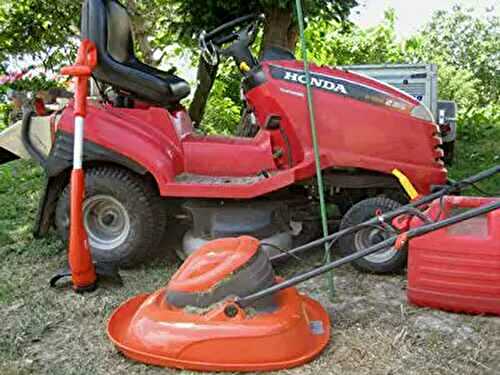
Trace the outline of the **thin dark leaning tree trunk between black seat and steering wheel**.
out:
M 217 68 L 217 66 L 207 64 L 205 60 L 200 57 L 197 74 L 198 86 L 196 87 L 193 101 L 189 106 L 189 116 L 195 127 L 200 126 L 203 115 L 205 114 L 208 96 L 210 95 L 215 77 L 217 76 Z

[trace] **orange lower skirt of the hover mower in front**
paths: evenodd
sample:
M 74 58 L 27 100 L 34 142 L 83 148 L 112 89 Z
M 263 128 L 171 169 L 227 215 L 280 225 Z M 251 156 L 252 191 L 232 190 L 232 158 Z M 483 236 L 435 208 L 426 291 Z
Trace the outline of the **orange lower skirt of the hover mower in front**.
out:
M 108 335 L 125 356 L 147 364 L 203 371 L 265 371 L 299 366 L 330 338 L 323 307 L 295 288 L 276 294 L 269 313 L 238 310 L 231 302 L 189 312 L 166 302 L 166 289 L 136 296 L 111 316 Z

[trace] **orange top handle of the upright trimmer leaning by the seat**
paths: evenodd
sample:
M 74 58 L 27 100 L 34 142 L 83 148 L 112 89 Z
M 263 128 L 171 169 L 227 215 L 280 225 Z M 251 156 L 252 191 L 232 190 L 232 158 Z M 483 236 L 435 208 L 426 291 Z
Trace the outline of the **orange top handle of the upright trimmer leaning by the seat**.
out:
M 61 69 L 61 74 L 75 77 L 75 116 L 87 114 L 88 80 L 97 66 L 97 47 L 89 39 L 80 43 L 75 65 Z

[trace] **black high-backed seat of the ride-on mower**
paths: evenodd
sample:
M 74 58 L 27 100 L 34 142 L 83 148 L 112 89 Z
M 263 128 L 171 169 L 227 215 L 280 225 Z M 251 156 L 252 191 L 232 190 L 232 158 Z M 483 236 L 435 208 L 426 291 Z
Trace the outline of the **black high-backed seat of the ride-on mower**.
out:
M 136 58 L 130 18 L 117 1 L 85 0 L 81 37 L 97 46 L 98 65 L 93 76 L 98 81 L 164 107 L 175 106 L 189 95 L 189 84 L 182 78 Z

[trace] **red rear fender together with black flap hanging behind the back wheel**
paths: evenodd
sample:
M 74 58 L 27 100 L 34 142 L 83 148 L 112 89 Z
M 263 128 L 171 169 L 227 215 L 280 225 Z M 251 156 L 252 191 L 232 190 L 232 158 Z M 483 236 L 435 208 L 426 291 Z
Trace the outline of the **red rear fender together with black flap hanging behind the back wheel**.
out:
M 33 228 L 37 238 L 50 229 L 57 199 L 68 183 L 68 171 L 73 162 L 73 121 L 73 109 L 69 105 L 56 125 L 55 141 L 44 163 L 47 180 Z M 89 105 L 84 166 L 104 162 L 140 175 L 151 173 L 160 187 L 173 180 L 175 173 L 182 169 L 180 143 L 175 144 L 175 140 L 175 130 L 163 109 L 138 111 Z

